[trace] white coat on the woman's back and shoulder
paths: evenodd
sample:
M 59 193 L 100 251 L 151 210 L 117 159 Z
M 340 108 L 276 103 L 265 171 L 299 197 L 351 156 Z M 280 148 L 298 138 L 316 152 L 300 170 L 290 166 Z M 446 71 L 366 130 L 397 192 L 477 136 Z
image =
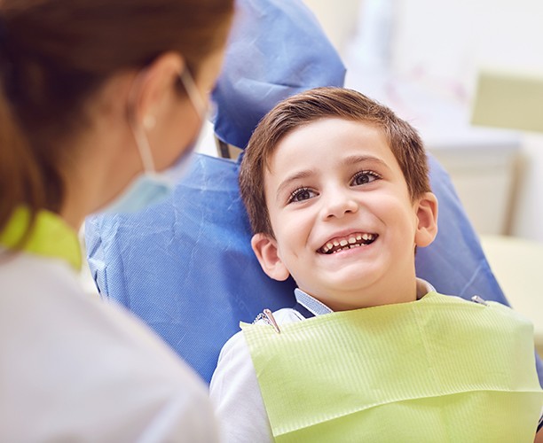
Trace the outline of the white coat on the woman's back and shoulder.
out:
M 64 260 L 0 261 L 0 441 L 213 442 L 201 380 Z

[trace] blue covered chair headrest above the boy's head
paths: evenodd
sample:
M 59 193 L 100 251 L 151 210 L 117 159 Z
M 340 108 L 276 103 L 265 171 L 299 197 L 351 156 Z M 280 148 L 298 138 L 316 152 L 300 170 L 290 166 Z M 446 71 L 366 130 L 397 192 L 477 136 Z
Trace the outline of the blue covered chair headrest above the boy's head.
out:
M 301 0 L 238 0 L 223 72 L 212 99 L 215 133 L 245 148 L 280 100 L 318 86 L 342 86 L 345 66 Z

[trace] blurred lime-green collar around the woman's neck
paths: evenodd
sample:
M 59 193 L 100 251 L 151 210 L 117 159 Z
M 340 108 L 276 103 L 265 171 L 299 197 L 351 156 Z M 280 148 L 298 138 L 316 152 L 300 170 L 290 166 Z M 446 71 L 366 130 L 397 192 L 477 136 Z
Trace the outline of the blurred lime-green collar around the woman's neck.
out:
M 0 245 L 6 248 L 18 245 L 29 222 L 28 209 L 17 208 L 5 229 L 0 232 Z M 26 253 L 66 260 L 77 271 L 82 266 L 81 245 L 77 234 L 59 215 L 49 211 L 42 210 L 36 214 L 34 227 L 21 249 Z

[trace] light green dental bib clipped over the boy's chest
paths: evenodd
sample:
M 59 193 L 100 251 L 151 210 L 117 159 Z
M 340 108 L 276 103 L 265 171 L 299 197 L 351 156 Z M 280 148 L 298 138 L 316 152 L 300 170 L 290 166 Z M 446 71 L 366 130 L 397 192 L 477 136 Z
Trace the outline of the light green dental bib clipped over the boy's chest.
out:
M 242 323 L 276 441 L 533 441 L 533 330 L 430 292 L 272 326 Z

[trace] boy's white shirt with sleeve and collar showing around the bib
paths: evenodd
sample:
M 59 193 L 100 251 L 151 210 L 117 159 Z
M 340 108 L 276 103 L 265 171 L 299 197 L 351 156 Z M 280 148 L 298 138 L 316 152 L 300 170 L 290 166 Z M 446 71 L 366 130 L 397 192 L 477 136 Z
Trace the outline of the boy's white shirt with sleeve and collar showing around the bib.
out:
M 417 278 L 417 299 L 421 299 L 430 291 L 435 291 L 434 287 L 425 280 Z M 303 305 L 308 308 L 305 304 Z M 327 308 L 326 305 L 322 306 Z M 313 312 L 312 309 L 310 311 Z M 331 309 L 330 312 L 332 312 Z M 313 314 L 323 313 L 313 312 Z M 279 309 L 273 313 L 273 316 L 278 324 L 305 320 L 303 315 L 291 307 Z M 223 346 L 215 373 L 211 378 L 209 395 L 219 419 L 222 441 L 226 443 L 273 441 L 255 367 L 241 331 Z

